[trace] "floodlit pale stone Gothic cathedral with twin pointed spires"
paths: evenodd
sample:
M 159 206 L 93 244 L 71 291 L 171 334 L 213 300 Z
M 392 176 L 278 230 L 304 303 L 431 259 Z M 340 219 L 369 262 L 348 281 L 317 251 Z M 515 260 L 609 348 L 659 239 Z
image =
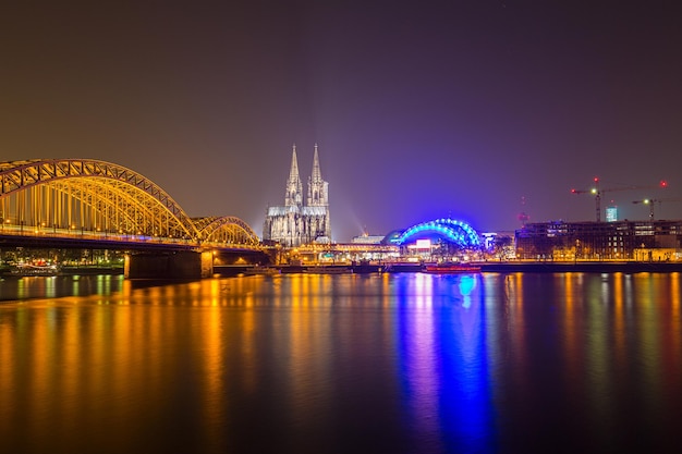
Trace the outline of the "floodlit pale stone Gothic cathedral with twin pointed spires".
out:
M 268 207 L 263 225 L 263 240 L 278 242 L 282 246 L 300 246 L 310 243 L 330 243 L 329 183 L 319 170 L 317 144 L 313 157 L 313 173 L 308 179 L 308 192 L 303 204 L 303 185 L 299 175 L 296 146 L 293 147 L 291 169 L 287 180 L 283 207 Z

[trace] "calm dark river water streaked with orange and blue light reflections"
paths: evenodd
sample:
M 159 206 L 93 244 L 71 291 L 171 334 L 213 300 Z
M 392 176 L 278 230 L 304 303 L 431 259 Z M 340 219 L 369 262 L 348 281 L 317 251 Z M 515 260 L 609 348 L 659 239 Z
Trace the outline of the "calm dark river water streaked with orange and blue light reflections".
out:
M 0 282 L 2 453 L 677 452 L 682 275 Z

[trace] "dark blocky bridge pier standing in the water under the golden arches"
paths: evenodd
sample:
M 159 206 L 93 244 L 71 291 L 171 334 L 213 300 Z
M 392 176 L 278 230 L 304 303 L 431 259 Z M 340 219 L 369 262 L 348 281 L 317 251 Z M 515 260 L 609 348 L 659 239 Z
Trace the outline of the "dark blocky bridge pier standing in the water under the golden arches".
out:
M 210 251 L 129 254 L 125 279 L 204 279 L 214 275 Z

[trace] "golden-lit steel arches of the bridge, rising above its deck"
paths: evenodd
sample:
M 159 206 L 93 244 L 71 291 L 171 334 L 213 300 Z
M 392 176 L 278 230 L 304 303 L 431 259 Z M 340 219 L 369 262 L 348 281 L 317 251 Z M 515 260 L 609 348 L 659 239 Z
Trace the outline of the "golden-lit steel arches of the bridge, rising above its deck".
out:
M 190 218 L 149 179 L 93 159 L 0 162 L 0 222 L 4 234 L 101 233 L 193 243 L 258 245 L 234 217 Z

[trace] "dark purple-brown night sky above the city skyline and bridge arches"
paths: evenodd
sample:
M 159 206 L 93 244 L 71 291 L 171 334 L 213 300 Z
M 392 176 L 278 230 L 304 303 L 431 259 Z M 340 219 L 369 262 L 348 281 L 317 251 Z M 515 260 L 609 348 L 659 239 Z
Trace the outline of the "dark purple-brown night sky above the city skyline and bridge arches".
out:
M 0 160 L 101 159 L 190 216 L 261 235 L 319 146 L 332 235 L 682 219 L 675 2 L 15 1 L 0 11 Z M 604 219 L 604 214 L 602 214 Z

